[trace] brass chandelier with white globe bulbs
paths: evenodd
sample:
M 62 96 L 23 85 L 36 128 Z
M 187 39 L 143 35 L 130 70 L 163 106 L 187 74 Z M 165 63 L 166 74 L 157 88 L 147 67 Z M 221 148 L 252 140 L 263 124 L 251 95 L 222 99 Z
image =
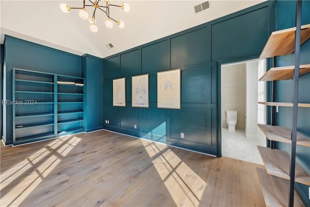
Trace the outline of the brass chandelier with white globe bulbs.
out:
M 100 6 L 99 5 L 99 2 L 101 0 L 95 0 L 94 2 L 89 0 L 92 4 L 91 5 L 86 5 L 85 4 L 85 0 L 83 0 L 83 7 L 79 8 L 79 7 L 70 7 L 69 5 L 65 4 L 65 3 L 62 3 L 60 5 L 60 8 L 62 10 L 62 12 L 64 13 L 68 13 L 71 11 L 71 9 L 80 9 L 79 10 L 79 16 L 82 18 L 82 19 L 88 19 L 89 22 L 91 23 L 91 31 L 92 32 L 97 32 L 98 31 L 98 27 L 96 25 L 96 19 L 95 19 L 95 13 L 96 13 L 96 10 L 101 10 L 103 11 L 104 13 L 106 13 L 106 15 L 108 16 L 107 20 L 106 20 L 106 26 L 108 28 L 112 28 L 113 27 L 113 21 L 115 21 L 117 23 L 117 25 L 120 27 L 120 28 L 124 28 L 125 24 L 123 21 L 121 20 L 118 20 L 116 21 L 115 19 L 111 18 L 110 17 L 110 6 L 116 6 L 116 7 L 121 7 L 125 12 L 129 12 L 130 10 L 130 6 L 128 3 L 124 3 L 123 5 L 121 6 L 118 6 L 118 5 L 114 5 L 114 4 L 109 4 L 110 0 L 104 0 L 106 2 L 106 6 Z M 93 15 L 88 17 L 88 13 L 85 9 L 86 6 L 93 6 L 94 7 L 94 10 L 93 10 Z

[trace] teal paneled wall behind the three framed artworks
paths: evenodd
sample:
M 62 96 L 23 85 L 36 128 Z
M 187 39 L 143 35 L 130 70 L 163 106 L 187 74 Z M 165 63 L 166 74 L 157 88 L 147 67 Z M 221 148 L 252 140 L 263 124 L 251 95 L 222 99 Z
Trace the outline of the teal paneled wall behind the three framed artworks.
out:
M 274 2 L 263 2 L 105 58 L 104 120 L 109 124 L 104 128 L 221 156 L 217 61 L 257 58 L 275 29 L 274 13 Z M 157 109 L 156 73 L 176 68 L 181 68 L 181 110 Z M 132 108 L 131 76 L 146 73 L 150 108 Z M 124 77 L 126 107 L 113 107 L 112 80 Z

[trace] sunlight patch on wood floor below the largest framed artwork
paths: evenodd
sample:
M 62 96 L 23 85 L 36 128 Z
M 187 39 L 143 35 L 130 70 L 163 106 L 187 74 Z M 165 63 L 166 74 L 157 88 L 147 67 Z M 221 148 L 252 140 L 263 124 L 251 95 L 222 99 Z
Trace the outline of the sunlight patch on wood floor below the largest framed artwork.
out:
M 207 184 L 168 146 L 142 141 L 176 206 L 199 206 Z

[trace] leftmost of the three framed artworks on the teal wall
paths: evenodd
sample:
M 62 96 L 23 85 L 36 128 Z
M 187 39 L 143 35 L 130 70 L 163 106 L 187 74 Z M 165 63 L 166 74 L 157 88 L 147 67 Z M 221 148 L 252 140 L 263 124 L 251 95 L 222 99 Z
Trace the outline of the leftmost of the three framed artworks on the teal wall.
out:
M 126 106 L 125 78 L 113 80 L 113 106 Z

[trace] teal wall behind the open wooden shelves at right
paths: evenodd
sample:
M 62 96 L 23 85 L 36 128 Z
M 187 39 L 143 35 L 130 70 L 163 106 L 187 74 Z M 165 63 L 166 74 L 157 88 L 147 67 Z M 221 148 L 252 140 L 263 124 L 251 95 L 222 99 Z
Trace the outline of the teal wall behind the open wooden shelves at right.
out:
M 283 30 L 295 26 L 296 1 L 277 1 L 276 19 L 277 30 Z M 310 1 L 302 1 L 301 24 L 310 24 Z M 277 57 L 277 66 L 294 65 L 294 53 L 290 55 Z M 300 64 L 310 64 L 310 40 L 304 43 L 300 48 Z M 293 80 L 277 81 L 276 83 L 276 101 L 292 102 L 293 98 Z M 299 103 L 310 103 L 310 74 L 299 77 Z M 277 113 L 277 125 L 292 128 L 292 108 L 279 107 Z M 297 131 L 310 137 L 310 108 L 298 108 Z M 276 143 L 276 148 L 291 152 L 291 145 L 286 143 Z M 305 146 L 296 147 L 296 161 L 310 174 L 310 148 Z M 300 195 L 306 206 L 310 206 L 309 186 L 296 184 Z

